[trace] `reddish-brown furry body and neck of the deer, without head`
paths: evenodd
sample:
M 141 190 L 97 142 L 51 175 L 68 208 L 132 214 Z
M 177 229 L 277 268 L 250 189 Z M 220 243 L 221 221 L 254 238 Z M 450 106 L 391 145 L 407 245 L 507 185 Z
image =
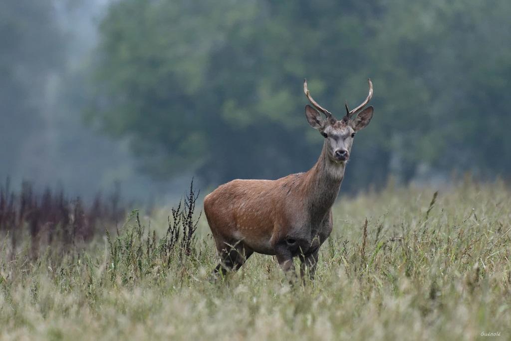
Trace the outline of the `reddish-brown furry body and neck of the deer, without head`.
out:
M 304 265 L 314 266 L 317 249 L 332 231 L 331 207 L 342 181 L 336 175 L 343 175 L 344 166 L 333 164 L 323 148 L 306 173 L 276 180 L 237 179 L 207 195 L 204 212 L 222 258 L 217 271 L 236 270 L 253 252 L 277 255 L 285 270 L 297 255 Z M 285 259 L 282 248 L 289 251 Z

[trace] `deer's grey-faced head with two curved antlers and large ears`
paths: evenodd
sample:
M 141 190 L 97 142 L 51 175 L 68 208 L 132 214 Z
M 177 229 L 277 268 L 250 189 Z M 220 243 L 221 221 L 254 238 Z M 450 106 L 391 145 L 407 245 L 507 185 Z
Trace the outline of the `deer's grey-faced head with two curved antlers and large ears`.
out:
M 372 106 L 364 109 L 373 97 L 373 83 L 370 79 L 367 81 L 369 82 L 369 95 L 365 101 L 353 110 L 350 110 L 346 103 L 346 115 L 341 120 L 337 120 L 330 111 L 314 101 L 307 88 L 307 80 L 304 79 L 305 96 L 313 106 L 309 104 L 305 106 L 305 116 L 311 127 L 319 130 L 325 138 L 328 156 L 335 163 L 344 163 L 350 158 L 355 133 L 367 126 L 373 117 Z M 324 118 L 321 113 L 325 116 Z

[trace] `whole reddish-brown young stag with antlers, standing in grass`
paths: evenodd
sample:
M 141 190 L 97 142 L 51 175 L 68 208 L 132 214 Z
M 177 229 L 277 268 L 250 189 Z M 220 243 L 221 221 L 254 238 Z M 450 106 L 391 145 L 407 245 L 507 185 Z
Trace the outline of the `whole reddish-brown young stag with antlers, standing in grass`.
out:
M 309 125 L 324 142 L 316 164 L 307 172 L 276 180 L 236 179 L 204 198 L 204 213 L 220 257 L 215 279 L 238 270 L 254 252 L 276 256 L 286 277 L 297 279 L 293 258 L 300 260 L 300 277 L 314 280 L 318 251 L 333 229 L 332 206 L 339 194 L 356 132 L 373 117 L 373 83 L 367 98 L 337 120 L 311 96 L 304 79 Z M 323 116 L 324 118 L 323 118 Z

